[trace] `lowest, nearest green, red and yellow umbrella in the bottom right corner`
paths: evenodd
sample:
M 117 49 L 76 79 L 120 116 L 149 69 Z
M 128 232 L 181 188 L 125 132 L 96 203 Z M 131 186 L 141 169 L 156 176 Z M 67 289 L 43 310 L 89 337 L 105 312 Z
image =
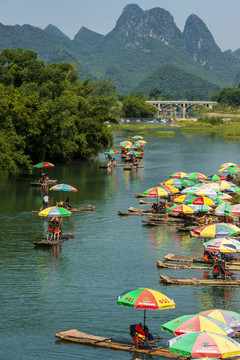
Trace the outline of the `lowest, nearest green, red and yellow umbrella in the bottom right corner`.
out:
M 228 358 L 240 355 L 240 344 L 228 336 L 195 332 L 169 340 L 169 351 L 192 358 Z

